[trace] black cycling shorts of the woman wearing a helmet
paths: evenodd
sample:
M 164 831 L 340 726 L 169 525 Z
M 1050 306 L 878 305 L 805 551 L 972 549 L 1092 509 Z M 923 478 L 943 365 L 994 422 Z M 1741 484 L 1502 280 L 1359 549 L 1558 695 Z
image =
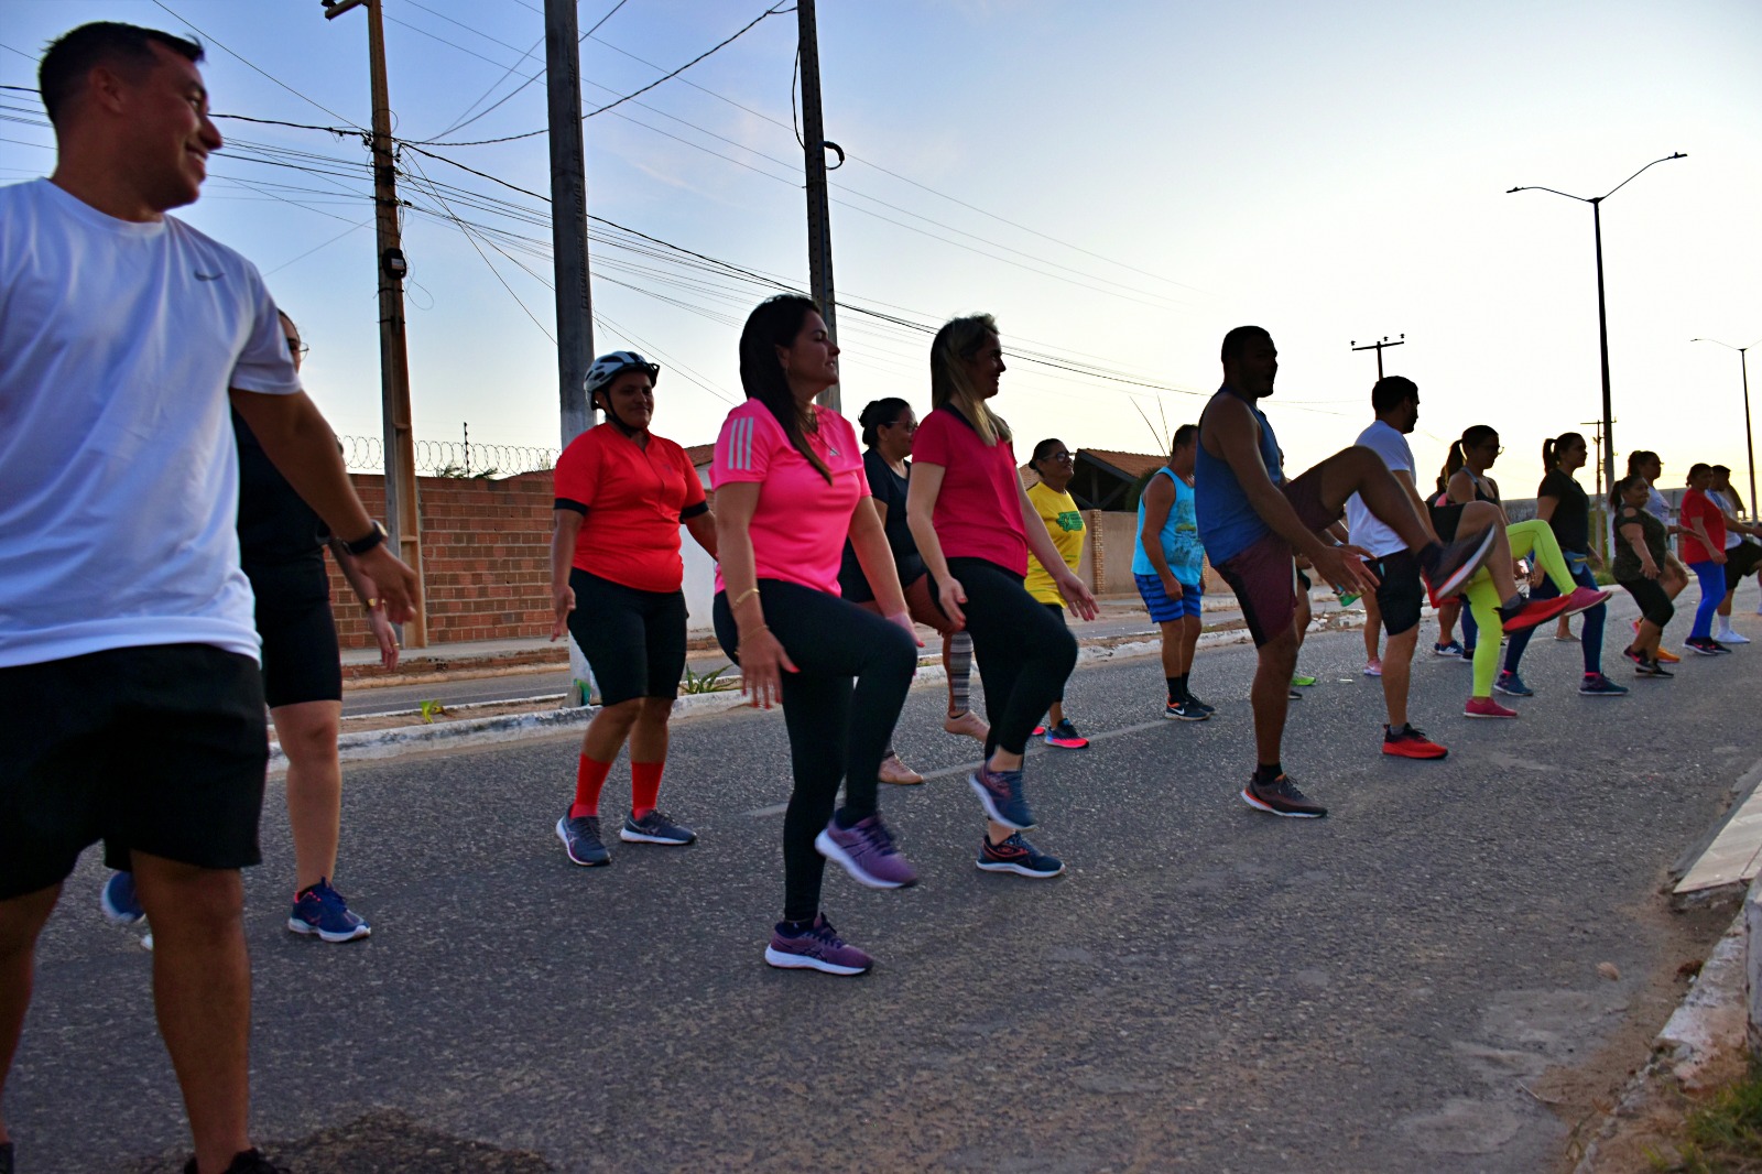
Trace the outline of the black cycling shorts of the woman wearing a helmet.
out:
M 638 591 L 571 568 L 569 635 L 594 670 L 601 705 L 678 696 L 685 675 L 685 592 Z

